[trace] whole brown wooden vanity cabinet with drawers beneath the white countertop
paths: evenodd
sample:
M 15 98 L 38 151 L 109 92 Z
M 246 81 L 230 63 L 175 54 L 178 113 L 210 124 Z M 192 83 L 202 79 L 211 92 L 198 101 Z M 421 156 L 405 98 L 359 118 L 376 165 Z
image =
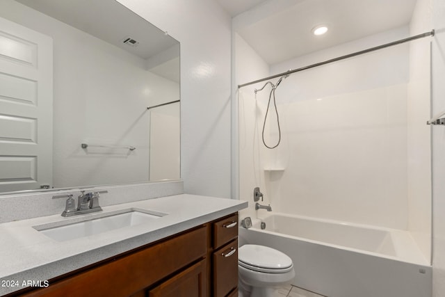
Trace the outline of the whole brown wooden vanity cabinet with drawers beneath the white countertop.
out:
M 200 225 L 10 296 L 237 296 L 238 214 Z

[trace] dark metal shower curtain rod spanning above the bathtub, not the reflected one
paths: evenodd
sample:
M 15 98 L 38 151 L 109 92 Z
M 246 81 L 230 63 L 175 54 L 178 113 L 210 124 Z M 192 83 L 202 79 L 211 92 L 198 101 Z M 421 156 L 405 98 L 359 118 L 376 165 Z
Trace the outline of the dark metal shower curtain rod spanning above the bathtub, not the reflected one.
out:
M 405 42 L 408 42 L 408 41 L 412 41 L 412 40 L 416 40 L 416 39 L 424 38 L 424 37 L 428 37 L 428 36 L 434 36 L 434 30 L 428 31 L 426 33 L 422 33 L 422 34 L 419 34 L 419 35 L 414 35 L 414 36 L 411 36 L 411 37 L 408 37 L 408 38 L 405 38 L 405 39 L 397 40 L 397 41 L 394 41 L 394 42 L 389 42 L 389 43 L 387 43 L 385 45 L 379 45 L 377 47 L 371 47 L 369 49 L 364 49 L 362 51 L 356 51 L 353 54 L 347 54 L 345 56 L 339 56 L 337 58 L 332 58 L 330 60 L 326 60 L 326 61 L 323 61 L 323 62 L 315 63 L 315 64 L 312 64 L 312 65 L 309 65 L 309 66 L 305 66 L 305 67 L 300 67 L 300 68 L 294 69 L 294 70 L 288 70 L 288 71 L 282 72 L 280 74 L 275 74 L 275 75 L 272 75 L 270 77 L 265 77 L 264 79 L 257 79 L 256 81 L 250 81 L 249 83 L 243 83 L 241 85 L 238 85 L 238 88 L 243 88 L 245 86 L 249 86 L 249 85 L 252 85 L 254 83 L 260 83 L 261 81 L 268 81 L 269 79 L 275 79 L 277 77 L 282 77 L 284 75 L 293 74 L 295 72 L 300 72 L 302 70 L 307 70 L 307 69 L 318 67 L 318 66 L 325 65 L 325 64 L 328 64 L 328 63 L 344 60 L 346 58 L 352 58 L 352 57 L 355 57 L 355 56 L 359 56 L 361 54 L 369 53 L 370 51 L 376 51 L 378 49 L 385 49 L 385 47 L 392 47 L 393 45 L 400 45 L 401 43 L 405 43 Z

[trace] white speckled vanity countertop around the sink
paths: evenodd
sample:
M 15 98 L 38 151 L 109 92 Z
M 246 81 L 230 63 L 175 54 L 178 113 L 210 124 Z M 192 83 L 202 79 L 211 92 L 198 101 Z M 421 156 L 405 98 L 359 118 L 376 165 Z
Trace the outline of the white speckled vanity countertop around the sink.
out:
M 58 215 L 0 224 L 0 296 L 22 289 L 28 280 L 44 281 L 133 248 L 232 214 L 248 202 L 198 195 L 174 195 L 102 207 L 103 211 L 63 218 Z M 55 241 L 33 228 L 63 220 L 95 218 L 121 209 L 167 214 L 132 227 L 68 241 Z M 60 210 L 60 213 L 63 209 Z M 18 287 L 17 287 L 18 284 Z

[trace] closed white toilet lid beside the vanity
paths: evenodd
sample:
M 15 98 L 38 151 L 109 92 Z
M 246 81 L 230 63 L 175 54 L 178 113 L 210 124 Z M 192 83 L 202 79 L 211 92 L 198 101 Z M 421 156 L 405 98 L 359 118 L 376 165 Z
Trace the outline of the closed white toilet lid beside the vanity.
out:
M 293 268 L 292 259 L 273 248 L 245 244 L 238 249 L 238 264 L 261 272 L 284 273 Z

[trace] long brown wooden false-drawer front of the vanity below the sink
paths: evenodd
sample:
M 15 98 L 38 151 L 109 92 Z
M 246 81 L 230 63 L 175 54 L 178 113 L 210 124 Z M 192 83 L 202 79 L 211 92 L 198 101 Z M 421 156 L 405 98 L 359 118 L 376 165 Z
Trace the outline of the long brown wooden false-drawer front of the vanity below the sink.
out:
M 145 292 L 146 288 L 178 271 L 178 275 L 183 273 L 183 279 L 184 274 L 195 273 L 187 268 L 193 267 L 191 264 L 194 262 L 205 263 L 206 241 L 207 226 L 204 225 L 152 246 L 108 259 L 99 266 L 50 282 L 49 287 L 24 296 L 138 296 L 141 291 Z M 204 290 L 205 285 L 205 280 L 197 280 L 196 286 L 200 286 L 200 290 Z

